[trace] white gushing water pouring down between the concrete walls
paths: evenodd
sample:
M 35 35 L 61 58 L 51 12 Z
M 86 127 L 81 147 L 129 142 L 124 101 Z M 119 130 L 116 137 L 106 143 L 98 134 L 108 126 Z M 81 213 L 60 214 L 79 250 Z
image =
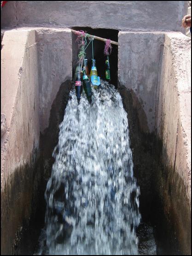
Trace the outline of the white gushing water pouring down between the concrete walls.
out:
M 127 114 L 114 86 L 101 87 L 91 105 L 83 93 L 78 105 L 70 92 L 45 193 L 48 255 L 138 254 L 140 192 Z

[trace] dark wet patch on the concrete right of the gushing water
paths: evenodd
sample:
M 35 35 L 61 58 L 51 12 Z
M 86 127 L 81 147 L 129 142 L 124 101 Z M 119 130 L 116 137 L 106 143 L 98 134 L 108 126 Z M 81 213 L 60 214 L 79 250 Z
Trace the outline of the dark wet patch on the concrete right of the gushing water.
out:
M 128 113 L 134 176 L 140 186 L 140 213 L 142 221 L 155 228 L 157 255 L 191 255 L 191 212 L 185 184 L 169 165 L 162 140 L 156 132 L 148 132 L 139 99 L 123 85 L 118 90 Z

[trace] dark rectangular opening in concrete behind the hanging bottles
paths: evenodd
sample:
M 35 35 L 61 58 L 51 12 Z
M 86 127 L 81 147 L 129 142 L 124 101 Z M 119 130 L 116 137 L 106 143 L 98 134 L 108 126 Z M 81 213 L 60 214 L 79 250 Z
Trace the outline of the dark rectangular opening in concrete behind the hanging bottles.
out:
M 113 41 L 118 42 L 118 30 L 109 30 L 109 29 L 92 29 L 89 27 L 73 27 L 74 30 L 83 30 L 88 34 L 102 37 L 105 39 L 111 39 Z M 77 65 L 77 55 L 79 53 L 78 43 L 76 42 L 77 36 L 72 33 L 72 47 L 73 47 L 73 77 L 76 70 Z M 89 43 L 89 40 L 88 40 Z M 111 68 L 111 84 L 115 85 L 117 88 L 117 77 L 118 77 L 118 46 L 115 44 L 111 44 L 112 51 L 110 55 L 110 68 Z M 101 79 L 105 80 L 105 55 L 104 55 L 105 42 L 94 39 L 93 41 L 93 49 L 94 49 L 94 59 L 96 60 L 96 66 L 98 71 L 98 76 Z M 92 65 L 92 43 L 86 49 L 86 59 L 88 60 L 89 71 Z

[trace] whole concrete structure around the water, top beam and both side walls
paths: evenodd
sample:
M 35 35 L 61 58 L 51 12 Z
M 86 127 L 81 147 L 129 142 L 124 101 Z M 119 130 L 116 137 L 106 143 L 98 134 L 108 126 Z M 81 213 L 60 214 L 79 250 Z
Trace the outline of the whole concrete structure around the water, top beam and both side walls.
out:
M 191 39 L 168 32 L 182 31 L 186 12 L 187 1 L 8 1 L 3 7 L 1 24 L 9 29 L 1 50 L 2 255 L 16 253 L 22 228 L 41 204 L 38 189 L 50 175 L 71 88 L 67 27 L 75 26 L 121 30 L 118 89 L 128 112 L 140 208 L 156 191 L 182 253 L 190 254 Z

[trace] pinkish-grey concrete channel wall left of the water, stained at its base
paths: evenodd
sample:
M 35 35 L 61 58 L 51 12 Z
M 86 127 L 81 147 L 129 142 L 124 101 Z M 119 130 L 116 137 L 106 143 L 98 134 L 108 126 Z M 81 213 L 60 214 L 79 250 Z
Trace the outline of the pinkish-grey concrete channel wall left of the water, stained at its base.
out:
M 60 85 L 72 75 L 69 30 L 6 31 L 1 50 L 1 254 L 35 214 L 40 131 Z

